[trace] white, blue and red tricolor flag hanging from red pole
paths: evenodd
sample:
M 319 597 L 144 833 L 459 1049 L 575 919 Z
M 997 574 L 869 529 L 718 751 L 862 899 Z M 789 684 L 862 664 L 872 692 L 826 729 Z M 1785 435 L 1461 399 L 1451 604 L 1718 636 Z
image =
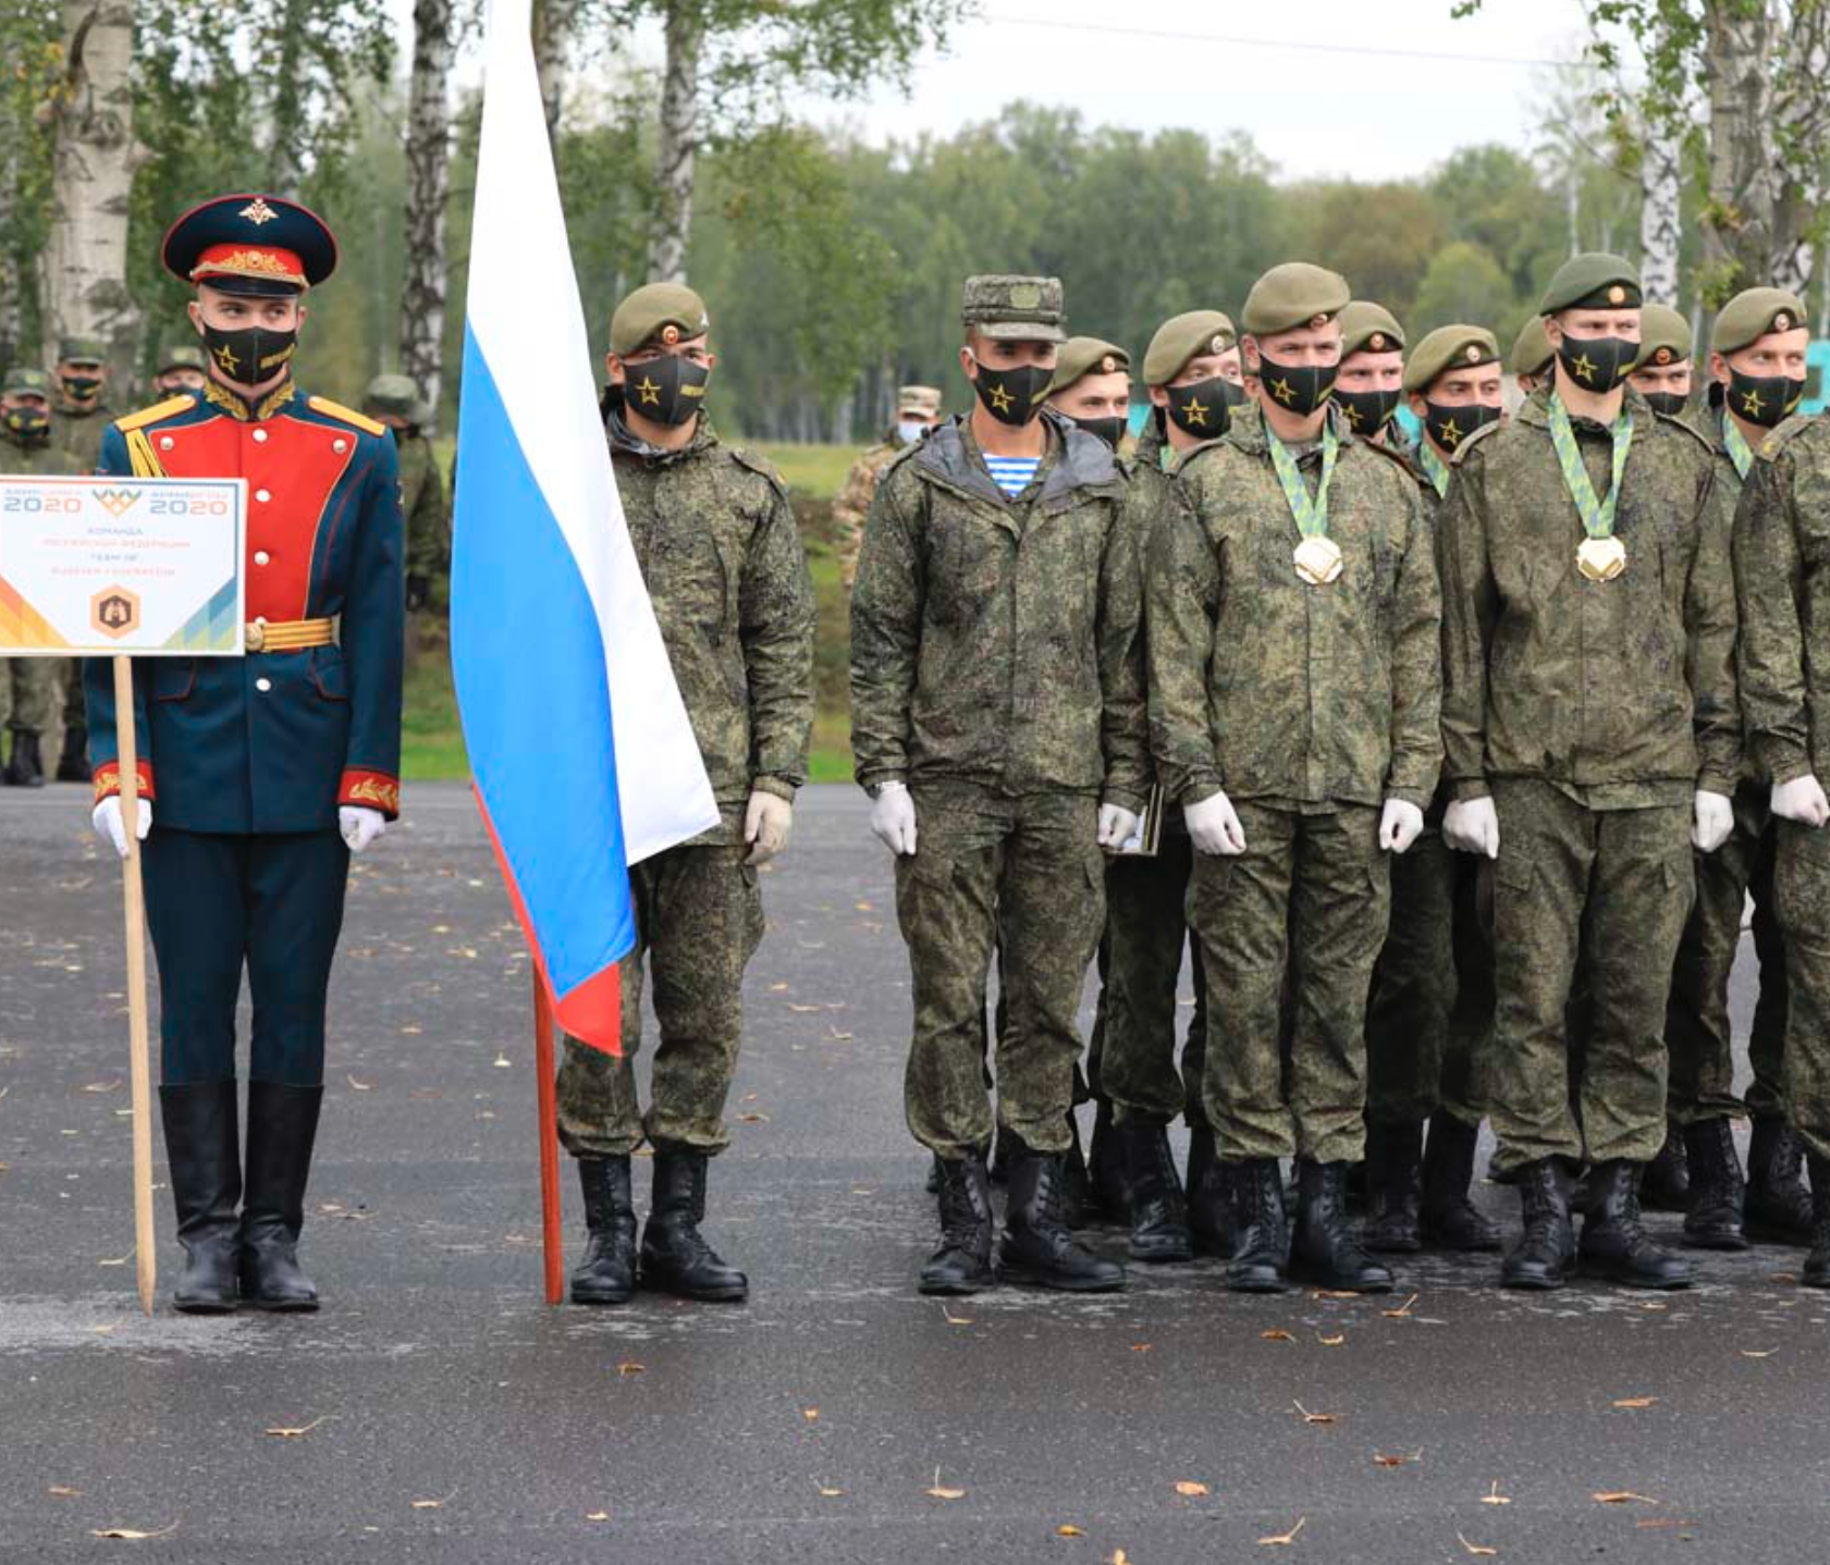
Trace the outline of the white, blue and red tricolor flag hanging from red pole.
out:
M 719 816 L 611 476 L 529 11 L 489 11 L 452 674 L 547 1005 L 571 1036 L 620 1052 L 628 866 Z

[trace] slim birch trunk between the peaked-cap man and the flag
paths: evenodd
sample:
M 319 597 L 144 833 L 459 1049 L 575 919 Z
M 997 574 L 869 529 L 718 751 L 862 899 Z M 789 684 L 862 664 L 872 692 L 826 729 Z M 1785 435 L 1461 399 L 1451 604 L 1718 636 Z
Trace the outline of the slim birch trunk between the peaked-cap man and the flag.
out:
M 406 275 L 401 280 L 401 373 L 436 421 L 445 368 L 445 203 L 450 194 L 452 0 L 414 4 L 414 77 L 406 101 Z M 428 428 L 426 434 L 432 434 Z

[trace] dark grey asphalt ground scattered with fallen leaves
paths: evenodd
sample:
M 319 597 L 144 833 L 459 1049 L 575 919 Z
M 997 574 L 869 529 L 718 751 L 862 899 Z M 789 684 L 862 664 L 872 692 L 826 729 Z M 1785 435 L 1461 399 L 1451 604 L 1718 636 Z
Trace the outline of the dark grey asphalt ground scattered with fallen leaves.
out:
M 0 794 L 0 1560 L 1825 1558 L 1826 1301 L 1795 1250 L 1658 1298 L 1440 1257 L 1378 1300 L 1239 1298 L 1215 1263 L 919 1298 L 889 888 L 862 798 L 809 789 L 712 1171 L 750 1303 L 549 1309 L 527 957 L 468 794 L 410 787 L 333 988 L 326 1309 L 148 1320 L 119 875 L 81 789 Z

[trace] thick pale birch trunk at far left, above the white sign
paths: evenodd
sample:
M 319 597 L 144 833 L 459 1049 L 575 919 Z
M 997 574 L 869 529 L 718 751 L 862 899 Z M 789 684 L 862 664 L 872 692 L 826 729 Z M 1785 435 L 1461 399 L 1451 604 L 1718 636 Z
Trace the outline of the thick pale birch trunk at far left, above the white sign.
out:
M 64 77 L 49 108 L 51 231 L 42 265 L 46 337 L 101 337 L 117 377 L 139 311 L 126 291 L 134 143 L 132 0 L 62 0 Z

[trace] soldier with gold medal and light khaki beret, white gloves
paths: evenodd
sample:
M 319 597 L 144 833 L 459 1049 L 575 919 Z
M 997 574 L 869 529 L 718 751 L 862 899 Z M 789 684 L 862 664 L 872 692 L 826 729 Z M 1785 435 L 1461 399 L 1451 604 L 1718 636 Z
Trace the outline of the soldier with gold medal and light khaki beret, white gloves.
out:
M 1347 302 L 1340 276 L 1301 262 L 1252 287 L 1241 342 L 1257 417 L 1182 458 L 1179 514 L 1147 571 L 1151 739 L 1197 853 L 1204 1093 L 1233 1173 L 1241 1290 L 1286 1274 L 1393 1285 L 1347 1219 L 1345 1177 L 1365 1139 L 1387 855 L 1424 829 L 1440 763 L 1440 600 L 1415 478 L 1329 403 Z

